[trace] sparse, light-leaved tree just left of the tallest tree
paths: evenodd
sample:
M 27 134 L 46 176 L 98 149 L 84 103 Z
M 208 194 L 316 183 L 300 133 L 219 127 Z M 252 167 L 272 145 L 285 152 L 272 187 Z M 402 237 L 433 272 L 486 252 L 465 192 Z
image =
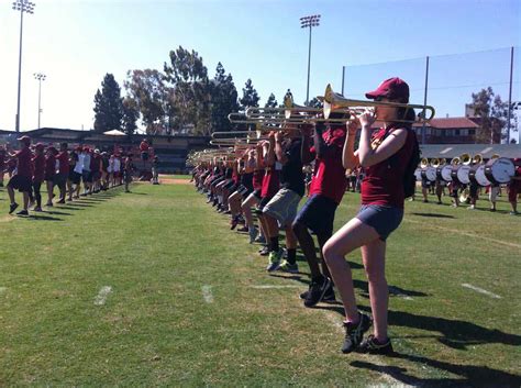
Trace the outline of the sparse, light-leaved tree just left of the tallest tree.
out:
M 153 133 L 157 126 L 162 126 L 168 114 L 170 91 L 164 84 L 164 77 L 155 69 L 126 73 L 126 92 L 141 113 L 147 133 Z

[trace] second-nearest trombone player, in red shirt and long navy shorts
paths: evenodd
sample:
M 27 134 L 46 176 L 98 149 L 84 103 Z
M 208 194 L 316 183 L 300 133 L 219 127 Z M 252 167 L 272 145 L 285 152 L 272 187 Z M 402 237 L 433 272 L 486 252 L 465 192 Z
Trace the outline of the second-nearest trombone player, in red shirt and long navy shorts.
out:
M 292 224 L 295 235 L 311 270 L 309 290 L 301 295 L 306 307 L 313 307 L 322 299 L 328 301 L 335 299 L 330 271 L 323 257 L 322 270 L 320 269 L 313 237 L 309 230 L 317 235 L 322 256 L 322 248 L 333 234 L 336 208 L 348 184 L 342 165 L 344 142 L 344 125 L 330 124 L 325 128 L 323 123 L 318 123 L 311 148 L 309 129 L 302 130 L 302 163 L 315 160 L 309 198 Z

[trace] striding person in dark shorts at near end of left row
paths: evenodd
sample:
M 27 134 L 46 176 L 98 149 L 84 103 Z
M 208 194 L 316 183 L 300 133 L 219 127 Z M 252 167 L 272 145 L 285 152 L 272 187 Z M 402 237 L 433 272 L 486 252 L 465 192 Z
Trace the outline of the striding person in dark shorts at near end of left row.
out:
M 18 215 L 29 215 L 29 197 L 32 191 L 33 168 L 31 164 L 32 153 L 29 148 L 31 145 L 31 137 L 22 136 L 19 138 L 21 149 L 11 155 L 16 160 L 16 168 L 8 182 L 8 195 L 11 200 L 9 207 L 9 214 L 18 208 L 14 198 L 14 190 L 19 190 L 23 195 L 23 210 L 20 210 Z

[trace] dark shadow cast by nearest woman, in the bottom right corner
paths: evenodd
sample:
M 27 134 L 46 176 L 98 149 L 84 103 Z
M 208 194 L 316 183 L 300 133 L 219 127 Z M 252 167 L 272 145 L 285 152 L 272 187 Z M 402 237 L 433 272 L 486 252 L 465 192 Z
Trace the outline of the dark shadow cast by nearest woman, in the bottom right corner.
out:
M 407 368 L 403 367 L 376 365 L 365 361 L 354 361 L 351 363 L 351 366 L 378 372 L 414 387 L 519 387 L 521 385 L 521 377 L 519 375 L 492 369 L 487 366 L 455 365 L 443 361 L 400 353 L 396 353 L 391 358 L 419 364 L 419 369 L 428 365 L 432 368 L 458 375 L 462 378 L 421 378 L 409 375 Z

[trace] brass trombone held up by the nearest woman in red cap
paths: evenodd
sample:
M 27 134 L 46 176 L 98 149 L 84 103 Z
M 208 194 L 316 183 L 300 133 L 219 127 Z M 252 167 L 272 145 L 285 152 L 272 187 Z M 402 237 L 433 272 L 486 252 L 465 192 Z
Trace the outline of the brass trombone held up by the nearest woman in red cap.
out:
M 431 106 L 421 106 L 413 103 L 399 103 L 399 102 L 381 102 L 381 101 L 366 101 L 366 100 L 352 100 L 346 99 L 344 96 L 333 91 L 331 84 L 325 87 L 324 92 L 324 118 L 328 119 L 334 111 L 351 112 L 352 114 L 359 114 L 366 108 L 378 108 L 378 107 L 392 107 L 392 108 L 406 108 L 406 109 L 419 109 L 422 111 L 418 117 L 420 122 L 429 122 L 434 118 L 435 110 Z M 430 115 L 426 117 L 426 111 Z M 411 120 L 397 120 L 399 122 L 411 122 Z M 414 120 L 413 122 L 417 122 Z

